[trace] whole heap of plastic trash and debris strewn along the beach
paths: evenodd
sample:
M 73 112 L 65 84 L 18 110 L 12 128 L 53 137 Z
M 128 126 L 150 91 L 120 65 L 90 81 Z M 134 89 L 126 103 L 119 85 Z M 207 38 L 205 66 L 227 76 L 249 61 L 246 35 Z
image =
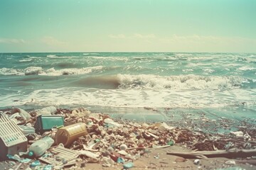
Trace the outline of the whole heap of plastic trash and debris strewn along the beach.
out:
M 149 148 L 176 143 L 199 151 L 256 148 L 255 128 L 210 135 L 166 123 L 113 120 L 110 115 L 91 113 L 86 108 L 70 111 L 54 106 L 29 113 L 11 108 L 0 115 L 1 161 L 11 159 L 31 169 L 85 167 L 90 163 L 104 167 L 122 164 L 123 169 L 130 169 Z

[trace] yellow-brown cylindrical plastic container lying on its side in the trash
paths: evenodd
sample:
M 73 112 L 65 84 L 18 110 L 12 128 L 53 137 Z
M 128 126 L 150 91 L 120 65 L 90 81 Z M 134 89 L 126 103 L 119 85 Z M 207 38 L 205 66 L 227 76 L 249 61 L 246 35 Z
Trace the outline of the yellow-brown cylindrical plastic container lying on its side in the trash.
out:
M 78 137 L 87 135 L 85 123 L 75 123 L 58 129 L 55 134 L 55 143 L 63 143 L 66 147 L 73 143 Z

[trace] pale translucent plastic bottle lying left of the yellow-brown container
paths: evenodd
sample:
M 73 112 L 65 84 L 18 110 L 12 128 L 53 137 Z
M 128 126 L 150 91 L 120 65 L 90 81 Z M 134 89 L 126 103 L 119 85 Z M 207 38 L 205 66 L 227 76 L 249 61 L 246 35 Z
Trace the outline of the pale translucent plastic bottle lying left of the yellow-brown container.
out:
M 47 149 L 53 145 L 54 140 L 51 137 L 43 137 L 41 140 L 37 140 L 28 148 L 29 157 L 41 157 Z

